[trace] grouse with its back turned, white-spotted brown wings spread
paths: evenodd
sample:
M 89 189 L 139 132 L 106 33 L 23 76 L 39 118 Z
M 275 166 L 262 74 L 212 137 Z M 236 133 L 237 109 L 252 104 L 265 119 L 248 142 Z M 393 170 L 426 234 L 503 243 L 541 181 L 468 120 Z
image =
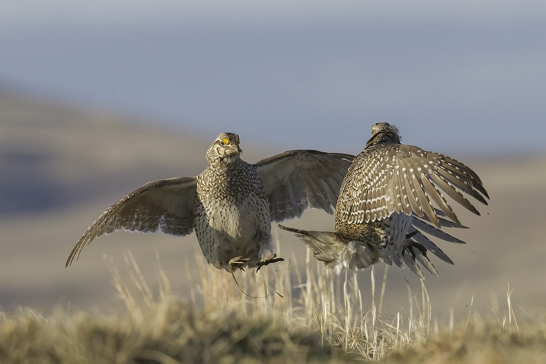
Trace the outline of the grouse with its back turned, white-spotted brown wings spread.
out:
M 424 233 L 464 243 L 440 230 L 463 227 L 446 196 L 479 215 L 461 192 L 487 204 L 478 175 L 451 157 L 401 144 L 398 128 L 371 127 L 372 137 L 354 159 L 341 185 L 334 232 L 297 233 L 317 259 L 333 268 L 362 269 L 379 260 L 407 265 L 423 277 L 416 261 L 437 275 L 427 252 L 453 263 Z M 444 219 L 447 217 L 447 219 Z

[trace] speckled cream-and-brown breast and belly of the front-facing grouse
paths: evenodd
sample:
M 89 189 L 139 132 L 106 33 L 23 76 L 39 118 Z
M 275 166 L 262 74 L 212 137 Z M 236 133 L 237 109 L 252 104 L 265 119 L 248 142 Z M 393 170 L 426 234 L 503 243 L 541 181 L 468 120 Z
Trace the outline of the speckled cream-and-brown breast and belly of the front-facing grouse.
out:
M 269 202 L 253 166 L 241 161 L 237 168 L 209 169 L 199 176 L 195 232 L 209 262 L 224 265 L 239 255 L 257 258 L 256 236 L 270 231 Z

